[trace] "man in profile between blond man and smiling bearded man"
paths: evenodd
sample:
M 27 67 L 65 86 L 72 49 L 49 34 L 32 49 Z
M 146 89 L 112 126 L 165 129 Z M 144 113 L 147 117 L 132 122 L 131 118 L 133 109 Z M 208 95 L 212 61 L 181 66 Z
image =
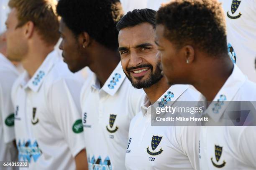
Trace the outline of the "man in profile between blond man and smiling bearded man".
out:
M 59 0 L 62 56 L 72 72 L 94 72 L 81 92 L 84 140 L 90 170 L 125 169 L 131 119 L 140 109 L 143 90 L 126 78 L 118 54 L 119 0 Z

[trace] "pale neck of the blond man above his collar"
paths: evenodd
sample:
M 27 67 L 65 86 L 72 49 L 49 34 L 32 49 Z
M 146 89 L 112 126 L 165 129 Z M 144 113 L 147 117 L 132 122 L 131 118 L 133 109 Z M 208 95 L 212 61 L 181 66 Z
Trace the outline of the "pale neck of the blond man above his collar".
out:
M 44 62 L 46 56 L 54 50 L 54 47 L 39 47 L 31 48 L 28 50 L 28 54 L 24 56 L 24 60 L 21 61 L 24 69 L 28 72 L 29 77 L 31 78 L 36 70 Z

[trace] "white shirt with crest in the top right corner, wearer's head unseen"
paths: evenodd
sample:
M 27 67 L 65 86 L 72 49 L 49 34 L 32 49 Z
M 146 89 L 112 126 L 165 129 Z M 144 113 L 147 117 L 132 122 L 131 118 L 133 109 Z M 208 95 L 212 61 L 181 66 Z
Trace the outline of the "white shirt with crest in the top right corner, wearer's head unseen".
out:
M 236 64 L 256 82 L 256 1 L 220 0 L 227 22 L 228 43 L 236 52 Z

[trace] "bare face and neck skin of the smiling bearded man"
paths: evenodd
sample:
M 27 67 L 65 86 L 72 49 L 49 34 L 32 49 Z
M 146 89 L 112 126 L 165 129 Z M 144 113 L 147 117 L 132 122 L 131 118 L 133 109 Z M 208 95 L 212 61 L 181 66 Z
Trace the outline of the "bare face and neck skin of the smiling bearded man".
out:
M 137 80 L 133 70 L 128 74 L 127 68 L 150 64 L 153 66 L 153 70 L 148 69 L 141 74 L 141 80 L 148 80 L 151 72 L 155 72 L 156 65 L 159 62 L 157 46 L 154 42 L 153 26 L 149 23 L 142 23 L 131 28 L 124 28 L 119 32 L 118 41 L 121 63 L 125 74 L 130 75 L 134 82 L 138 82 L 139 80 Z M 144 67 L 135 70 L 142 69 Z M 151 87 L 143 88 L 143 90 L 146 92 L 150 102 L 154 103 L 169 87 L 163 77 L 159 82 Z

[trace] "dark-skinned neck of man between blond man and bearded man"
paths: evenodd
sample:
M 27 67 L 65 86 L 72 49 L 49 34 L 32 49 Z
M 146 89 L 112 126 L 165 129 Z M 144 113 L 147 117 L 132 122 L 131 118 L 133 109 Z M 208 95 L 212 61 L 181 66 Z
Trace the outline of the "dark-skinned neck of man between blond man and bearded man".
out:
M 90 65 L 90 69 L 97 75 L 100 87 L 102 87 L 120 62 L 120 56 L 118 52 L 105 47 L 102 50 L 95 50 L 92 56 L 94 57 L 94 62 Z

